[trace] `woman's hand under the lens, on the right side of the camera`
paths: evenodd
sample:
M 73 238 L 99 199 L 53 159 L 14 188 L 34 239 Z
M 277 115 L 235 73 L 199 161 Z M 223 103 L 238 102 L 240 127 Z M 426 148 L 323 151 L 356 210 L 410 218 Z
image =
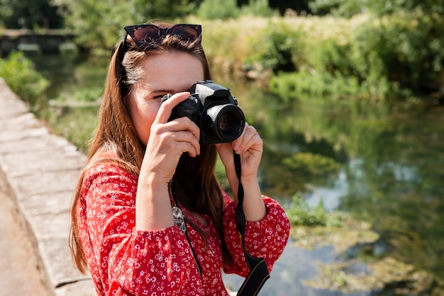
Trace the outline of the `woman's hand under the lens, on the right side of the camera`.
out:
M 240 155 L 242 178 L 245 181 L 257 179 L 257 169 L 262 158 L 262 139 L 255 127 L 245 123 L 242 135 L 231 143 L 216 144 L 218 154 L 226 168 L 228 180 L 237 178 L 235 175 L 233 150 Z

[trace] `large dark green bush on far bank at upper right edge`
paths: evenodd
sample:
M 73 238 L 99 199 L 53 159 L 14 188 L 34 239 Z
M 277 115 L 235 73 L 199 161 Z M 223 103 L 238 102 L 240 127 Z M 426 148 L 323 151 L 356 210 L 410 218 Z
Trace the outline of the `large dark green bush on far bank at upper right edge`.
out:
M 405 97 L 406 89 L 440 88 L 444 21 L 412 11 L 362 24 L 350 40 L 350 64 L 374 96 Z

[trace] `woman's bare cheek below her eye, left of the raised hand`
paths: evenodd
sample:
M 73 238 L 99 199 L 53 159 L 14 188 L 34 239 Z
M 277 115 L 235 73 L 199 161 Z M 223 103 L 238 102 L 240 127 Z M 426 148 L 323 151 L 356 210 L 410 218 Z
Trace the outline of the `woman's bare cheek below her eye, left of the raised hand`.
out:
M 146 101 L 130 100 L 131 120 L 133 120 L 135 131 L 143 144 L 148 143 L 151 125 L 159 108 L 160 101 L 150 101 L 148 103 Z

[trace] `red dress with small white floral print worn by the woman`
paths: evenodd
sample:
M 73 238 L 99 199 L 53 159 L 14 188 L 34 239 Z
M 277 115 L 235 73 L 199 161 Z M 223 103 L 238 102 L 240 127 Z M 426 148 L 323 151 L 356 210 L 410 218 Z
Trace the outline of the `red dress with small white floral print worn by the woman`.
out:
M 77 217 L 97 295 L 228 295 L 221 275 L 221 237 L 211 219 L 204 215 L 204 226 L 184 210 L 208 234 L 206 242 L 188 225 L 201 276 L 177 226 L 152 232 L 135 229 L 137 184 L 138 176 L 109 163 L 94 166 L 84 177 Z M 235 227 L 235 205 L 224 195 L 224 239 L 234 262 L 223 271 L 245 277 L 248 267 Z M 271 271 L 287 244 L 289 221 L 278 203 L 265 196 L 263 200 L 267 215 L 247 222 L 245 246 L 252 256 L 264 257 Z

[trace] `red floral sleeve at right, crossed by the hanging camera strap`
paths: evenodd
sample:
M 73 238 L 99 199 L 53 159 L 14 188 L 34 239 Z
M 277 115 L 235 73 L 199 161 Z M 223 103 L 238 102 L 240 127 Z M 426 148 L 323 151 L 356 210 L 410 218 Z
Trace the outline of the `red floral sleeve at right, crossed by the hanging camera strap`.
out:
M 290 224 L 284 209 L 272 198 L 262 196 L 267 214 L 257 222 L 246 222 L 245 249 L 252 256 L 265 258 L 268 271 L 272 271 L 274 262 L 284 251 L 289 238 Z M 228 251 L 233 257 L 233 263 L 224 268 L 226 273 L 238 273 L 243 277 L 250 271 L 243 248 L 238 237 L 235 223 L 235 203 L 228 203 L 223 216 L 224 239 Z

